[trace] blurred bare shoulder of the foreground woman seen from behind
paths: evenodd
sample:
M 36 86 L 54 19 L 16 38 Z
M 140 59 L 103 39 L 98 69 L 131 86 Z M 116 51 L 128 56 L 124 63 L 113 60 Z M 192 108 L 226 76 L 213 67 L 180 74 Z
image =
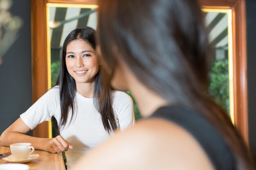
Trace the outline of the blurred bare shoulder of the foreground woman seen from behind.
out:
M 157 118 L 138 121 L 117 133 L 81 159 L 77 169 L 79 164 L 91 170 L 214 169 L 193 136 L 177 124 Z

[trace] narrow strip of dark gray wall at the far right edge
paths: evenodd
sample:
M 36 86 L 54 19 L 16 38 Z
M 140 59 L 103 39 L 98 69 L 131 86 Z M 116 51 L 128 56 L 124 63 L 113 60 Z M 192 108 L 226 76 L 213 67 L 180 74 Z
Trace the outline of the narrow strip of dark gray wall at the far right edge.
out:
M 249 146 L 256 158 L 256 0 L 246 0 Z

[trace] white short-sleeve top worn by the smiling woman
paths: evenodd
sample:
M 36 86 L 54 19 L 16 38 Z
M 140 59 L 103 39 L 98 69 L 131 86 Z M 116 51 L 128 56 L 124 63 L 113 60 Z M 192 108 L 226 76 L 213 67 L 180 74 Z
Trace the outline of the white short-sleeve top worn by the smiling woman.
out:
M 72 122 L 60 129 L 61 136 L 70 142 L 73 149 L 65 152 L 67 166 L 70 168 L 81 155 L 108 139 L 110 135 L 105 131 L 101 114 L 94 107 L 93 98 L 86 98 L 76 92 L 77 103 L 76 114 Z M 113 110 L 117 126 L 124 130 L 135 124 L 132 99 L 125 92 L 114 91 Z M 49 89 L 34 105 L 32 105 L 20 118 L 34 129 L 38 124 L 48 121 L 54 116 L 59 124 L 61 117 L 59 88 L 58 86 Z M 71 118 L 71 111 L 68 119 Z

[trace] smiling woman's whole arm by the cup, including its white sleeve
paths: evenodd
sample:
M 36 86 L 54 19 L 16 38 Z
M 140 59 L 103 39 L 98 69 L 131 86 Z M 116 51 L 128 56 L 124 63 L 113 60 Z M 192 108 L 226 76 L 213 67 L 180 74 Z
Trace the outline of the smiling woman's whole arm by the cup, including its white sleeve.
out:
M 34 148 L 46 150 L 51 153 L 60 153 L 68 148 L 72 148 L 71 144 L 61 136 L 48 139 L 25 135 L 38 124 L 50 120 L 55 113 L 58 113 L 58 95 L 58 88 L 49 89 L 34 105 L 25 113 L 22 113 L 18 120 L 2 133 L 0 137 L 1 145 L 9 146 L 13 143 L 29 142 Z

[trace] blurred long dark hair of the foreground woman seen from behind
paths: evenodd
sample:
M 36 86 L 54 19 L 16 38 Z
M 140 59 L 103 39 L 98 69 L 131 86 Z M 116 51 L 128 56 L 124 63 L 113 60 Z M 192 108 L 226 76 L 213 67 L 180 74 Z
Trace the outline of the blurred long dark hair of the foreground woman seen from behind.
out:
M 209 120 L 238 170 L 252 169 L 230 118 L 207 94 L 209 43 L 197 0 L 99 0 L 98 19 L 97 41 L 108 68 L 104 84 L 121 57 L 146 87 Z

